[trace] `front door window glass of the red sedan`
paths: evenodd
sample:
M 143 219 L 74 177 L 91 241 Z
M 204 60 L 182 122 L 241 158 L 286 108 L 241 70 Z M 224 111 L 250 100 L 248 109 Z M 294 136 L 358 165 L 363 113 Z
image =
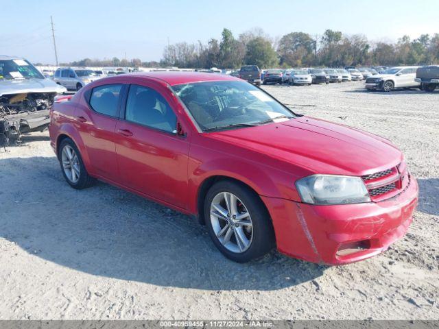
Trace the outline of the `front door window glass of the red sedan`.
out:
M 131 85 L 125 119 L 165 132 L 175 132 L 177 117 L 165 98 L 152 88 Z

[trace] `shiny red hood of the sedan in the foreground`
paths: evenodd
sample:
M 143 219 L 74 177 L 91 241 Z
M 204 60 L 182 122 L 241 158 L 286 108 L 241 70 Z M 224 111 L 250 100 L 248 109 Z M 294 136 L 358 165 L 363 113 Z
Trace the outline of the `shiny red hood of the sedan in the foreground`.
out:
M 394 167 L 403 159 L 401 151 L 385 138 L 310 117 L 210 135 L 310 174 L 367 175 Z

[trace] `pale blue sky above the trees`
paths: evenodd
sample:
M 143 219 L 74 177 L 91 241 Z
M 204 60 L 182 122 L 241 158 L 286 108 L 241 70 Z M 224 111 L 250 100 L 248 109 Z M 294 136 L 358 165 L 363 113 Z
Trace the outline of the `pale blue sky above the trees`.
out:
M 169 42 L 206 42 L 224 27 L 273 38 L 335 29 L 394 42 L 439 33 L 439 0 L 1 0 L 0 54 L 55 63 L 83 58 L 160 60 Z

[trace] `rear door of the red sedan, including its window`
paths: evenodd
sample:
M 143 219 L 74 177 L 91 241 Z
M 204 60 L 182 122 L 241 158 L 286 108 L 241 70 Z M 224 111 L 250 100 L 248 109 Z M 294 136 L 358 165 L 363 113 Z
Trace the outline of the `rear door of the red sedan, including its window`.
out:
M 75 125 L 91 164 L 93 173 L 119 182 L 115 149 L 115 128 L 119 120 L 123 84 L 96 86 L 75 110 Z

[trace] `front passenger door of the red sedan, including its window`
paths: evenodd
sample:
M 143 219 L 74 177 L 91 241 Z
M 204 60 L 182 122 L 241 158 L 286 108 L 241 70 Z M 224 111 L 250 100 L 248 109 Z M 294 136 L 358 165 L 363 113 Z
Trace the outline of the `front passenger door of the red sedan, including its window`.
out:
M 126 186 L 187 208 L 189 141 L 176 133 L 169 90 L 156 82 L 130 85 L 117 123 L 117 162 Z

